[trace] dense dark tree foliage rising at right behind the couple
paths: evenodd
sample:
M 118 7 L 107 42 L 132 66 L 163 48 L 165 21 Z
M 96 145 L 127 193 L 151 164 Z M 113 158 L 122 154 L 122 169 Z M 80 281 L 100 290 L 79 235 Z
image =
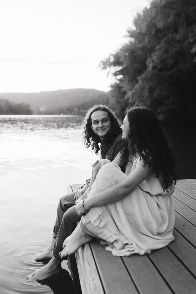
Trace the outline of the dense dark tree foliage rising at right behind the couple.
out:
M 196 118 L 196 1 L 154 0 L 134 20 L 128 42 L 101 61 L 116 83 L 113 104 L 145 105 L 162 121 Z

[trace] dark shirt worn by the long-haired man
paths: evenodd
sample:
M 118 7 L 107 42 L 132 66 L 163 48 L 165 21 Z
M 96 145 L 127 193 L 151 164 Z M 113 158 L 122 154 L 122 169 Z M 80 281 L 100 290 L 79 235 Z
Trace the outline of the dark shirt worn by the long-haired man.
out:
M 123 148 L 123 139 L 122 135 L 118 135 L 111 143 L 103 143 L 100 147 L 100 158 L 105 158 L 110 161 L 113 161 L 113 159 L 117 156 L 119 151 Z

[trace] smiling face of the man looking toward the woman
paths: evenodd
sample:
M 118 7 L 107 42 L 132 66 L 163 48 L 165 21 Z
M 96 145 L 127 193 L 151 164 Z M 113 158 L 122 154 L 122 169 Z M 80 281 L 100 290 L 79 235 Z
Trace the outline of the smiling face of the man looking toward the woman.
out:
M 91 114 L 91 124 L 94 133 L 99 136 L 101 141 L 107 136 L 111 130 L 111 122 L 108 113 L 97 110 Z

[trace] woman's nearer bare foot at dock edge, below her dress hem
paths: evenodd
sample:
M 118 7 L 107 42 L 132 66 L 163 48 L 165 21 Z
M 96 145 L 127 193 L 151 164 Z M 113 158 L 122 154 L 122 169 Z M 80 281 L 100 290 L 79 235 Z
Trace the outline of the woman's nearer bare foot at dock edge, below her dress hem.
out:
M 73 235 L 70 235 L 66 247 L 59 253 L 61 258 L 75 253 L 82 245 L 90 242 L 93 239 L 92 236 L 84 233 L 79 225 L 74 230 L 74 232 L 75 233 Z

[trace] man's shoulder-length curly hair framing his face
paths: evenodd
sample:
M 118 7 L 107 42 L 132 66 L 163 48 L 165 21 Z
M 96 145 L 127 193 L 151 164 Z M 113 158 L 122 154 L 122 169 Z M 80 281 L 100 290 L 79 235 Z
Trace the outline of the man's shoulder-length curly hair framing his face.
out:
M 101 143 L 101 140 L 99 136 L 97 136 L 93 129 L 92 129 L 92 123 L 91 123 L 91 115 L 95 111 L 105 111 L 108 113 L 108 116 L 110 118 L 111 122 L 111 130 L 107 134 L 106 138 L 104 139 L 104 142 L 110 143 L 112 142 L 119 134 L 122 134 L 122 130 L 120 128 L 120 122 L 118 121 L 118 118 L 116 117 L 113 110 L 111 110 L 108 106 L 104 104 L 96 104 L 93 107 L 89 108 L 86 112 L 85 118 L 83 119 L 83 139 L 84 139 L 84 145 L 89 148 L 91 147 L 96 154 L 98 154 L 100 148 L 98 143 Z

